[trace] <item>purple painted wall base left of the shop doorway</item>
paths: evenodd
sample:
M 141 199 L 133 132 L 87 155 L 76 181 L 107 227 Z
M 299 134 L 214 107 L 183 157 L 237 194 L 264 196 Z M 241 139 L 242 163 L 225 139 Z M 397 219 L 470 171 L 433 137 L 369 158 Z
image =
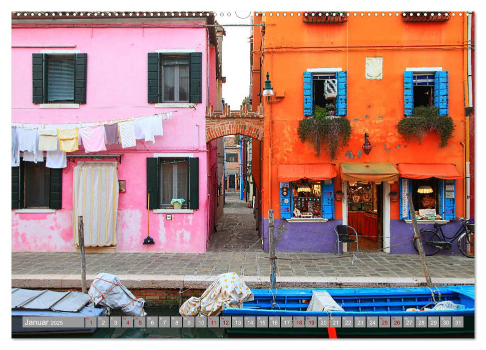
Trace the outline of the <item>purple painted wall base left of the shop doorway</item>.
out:
M 268 251 L 268 219 L 263 223 L 263 248 Z M 334 252 L 336 233 L 334 227 L 342 223 L 341 219 L 327 222 L 288 222 L 275 219 L 275 250 Z

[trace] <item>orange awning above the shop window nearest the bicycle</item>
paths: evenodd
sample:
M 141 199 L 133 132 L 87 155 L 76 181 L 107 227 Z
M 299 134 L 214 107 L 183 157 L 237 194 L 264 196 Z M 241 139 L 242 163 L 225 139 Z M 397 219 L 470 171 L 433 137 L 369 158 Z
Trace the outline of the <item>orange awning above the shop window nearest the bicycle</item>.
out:
M 410 164 L 399 163 L 398 171 L 401 177 L 428 178 L 437 177 L 445 180 L 462 178 L 454 164 Z

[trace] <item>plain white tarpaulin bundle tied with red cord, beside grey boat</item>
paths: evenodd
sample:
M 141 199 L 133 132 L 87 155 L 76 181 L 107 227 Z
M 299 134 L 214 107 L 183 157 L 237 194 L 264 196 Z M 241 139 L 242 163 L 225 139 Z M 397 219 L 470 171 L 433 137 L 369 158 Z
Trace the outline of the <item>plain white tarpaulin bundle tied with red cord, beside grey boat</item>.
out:
M 129 316 L 145 316 L 145 300 L 135 297 L 114 274 L 98 273 L 88 294 L 95 305 L 121 308 Z

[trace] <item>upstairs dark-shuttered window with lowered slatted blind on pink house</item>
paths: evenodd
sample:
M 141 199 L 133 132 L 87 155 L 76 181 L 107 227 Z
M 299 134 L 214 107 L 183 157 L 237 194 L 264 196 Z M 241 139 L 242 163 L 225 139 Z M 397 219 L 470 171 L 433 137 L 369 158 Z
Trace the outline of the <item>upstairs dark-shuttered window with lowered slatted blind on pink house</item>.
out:
M 32 54 L 34 103 L 86 103 L 87 54 Z

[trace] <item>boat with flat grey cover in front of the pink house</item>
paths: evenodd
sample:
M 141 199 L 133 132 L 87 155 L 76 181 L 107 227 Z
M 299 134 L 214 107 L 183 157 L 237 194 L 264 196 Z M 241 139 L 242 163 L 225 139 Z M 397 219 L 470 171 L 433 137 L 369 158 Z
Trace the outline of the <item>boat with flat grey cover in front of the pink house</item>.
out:
M 98 317 L 107 308 L 94 307 L 86 293 L 12 288 L 12 334 L 93 333 L 96 327 L 24 327 L 24 317 Z M 27 318 L 28 319 L 28 318 Z M 84 323 L 84 322 L 83 322 Z

